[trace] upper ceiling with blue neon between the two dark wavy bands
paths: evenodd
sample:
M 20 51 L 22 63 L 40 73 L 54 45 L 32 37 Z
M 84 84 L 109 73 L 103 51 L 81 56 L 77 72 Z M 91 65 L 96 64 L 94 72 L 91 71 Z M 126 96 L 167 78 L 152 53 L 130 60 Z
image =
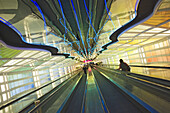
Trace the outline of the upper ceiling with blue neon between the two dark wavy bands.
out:
M 117 18 L 133 15 L 137 2 L 135 0 L 7 0 L 1 2 L 0 14 L 21 32 L 26 42 L 54 46 L 62 53 L 69 51 L 63 50 L 67 47 L 70 51 L 73 50 L 73 53 L 76 52 L 81 57 L 89 59 L 94 51 L 101 49 L 102 45 L 98 44 L 103 37 L 101 35 L 112 33 L 118 27 Z M 130 5 L 128 8 L 121 8 L 127 4 Z

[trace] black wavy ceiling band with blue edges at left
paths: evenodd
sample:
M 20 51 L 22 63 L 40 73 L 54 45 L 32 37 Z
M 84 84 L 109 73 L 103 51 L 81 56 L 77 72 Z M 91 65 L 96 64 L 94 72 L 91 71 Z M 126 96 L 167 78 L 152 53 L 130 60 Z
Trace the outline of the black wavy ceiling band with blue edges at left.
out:
M 11 28 L 10 26 L 12 26 L 10 23 L 0 21 L 0 27 L 3 28 L 0 30 L 0 42 L 9 48 L 19 50 L 48 51 L 51 52 L 51 55 L 65 56 L 66 58 L 70 55 L 65 53 L 58 53 L 59 50 L 53 46 L 27 43 L 15 31 L 16 28 Z

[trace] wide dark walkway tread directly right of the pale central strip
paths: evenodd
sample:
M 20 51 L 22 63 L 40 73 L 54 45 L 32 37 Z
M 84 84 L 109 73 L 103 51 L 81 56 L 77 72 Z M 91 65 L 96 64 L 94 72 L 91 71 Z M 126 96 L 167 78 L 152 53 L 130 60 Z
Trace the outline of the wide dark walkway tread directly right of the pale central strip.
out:
M 125 96 L 119 88 L 108 81 L 98 71 L 93 70 L 94 76 L 106 102 L 109 112 L 113 113 L 141 113 L 148 112 L 140 105 L 133 103 L 132 98 Z M 144 111 L 143 111 L 144 110 Z

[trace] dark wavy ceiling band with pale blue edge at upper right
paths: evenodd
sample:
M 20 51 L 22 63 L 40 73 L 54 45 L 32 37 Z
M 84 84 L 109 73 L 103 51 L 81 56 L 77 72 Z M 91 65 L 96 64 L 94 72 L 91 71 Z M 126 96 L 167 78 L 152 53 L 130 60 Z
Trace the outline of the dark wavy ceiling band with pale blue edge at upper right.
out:
M 111 42 L 102 46 L 103 50 L 106 50 L 108 46 L 112 45 L 113 43 L 118 41 L 118 37 L 126 32 L 127 30 L 143 23 L 144 21 L 148 20 L 152 15 L 157 11 L 158 6 L 161 4 L 162 0 L 140 0 L 137 8 L 137 16 L 130 21 L 129 23 L 123 25 L 119 29 L 117 29 L 111 36 Z

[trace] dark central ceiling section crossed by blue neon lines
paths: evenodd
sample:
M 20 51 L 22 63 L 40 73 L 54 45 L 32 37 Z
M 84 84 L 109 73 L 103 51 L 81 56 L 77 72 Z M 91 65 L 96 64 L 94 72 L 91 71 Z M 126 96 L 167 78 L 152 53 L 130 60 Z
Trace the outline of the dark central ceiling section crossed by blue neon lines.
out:
M 36 0 L 26 1 L 32 11 L 82 57 L 88 58 L 96 47 L 115 0 Z M 34 4 L 34 5 L 33 5 Z M 37 7 L 37 9 L 35 8 Z

